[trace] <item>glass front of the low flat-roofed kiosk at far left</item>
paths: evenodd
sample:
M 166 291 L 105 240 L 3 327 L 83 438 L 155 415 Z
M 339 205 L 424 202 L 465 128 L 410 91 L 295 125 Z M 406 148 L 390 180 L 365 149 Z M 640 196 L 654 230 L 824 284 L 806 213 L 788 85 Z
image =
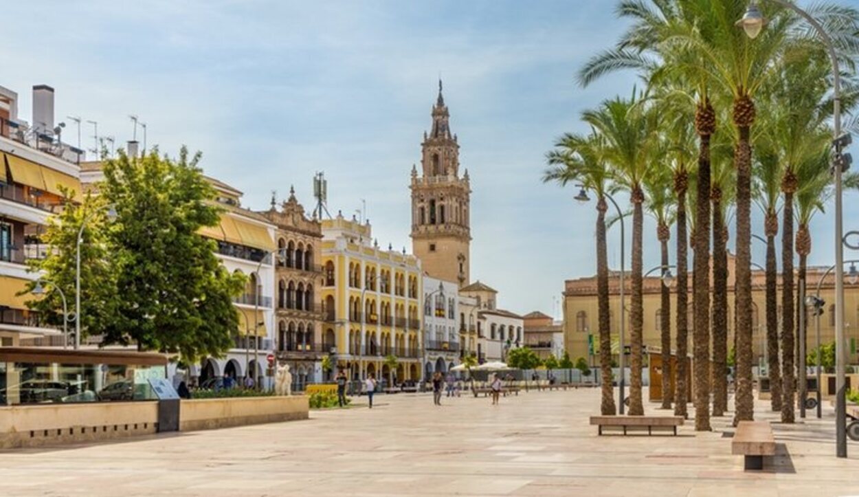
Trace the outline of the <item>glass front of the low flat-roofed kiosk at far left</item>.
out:
M 164 365 L 26 359 L 0 360 L 0 406 L 155 400 L 149 379 L 164 378 L 167 373 Z

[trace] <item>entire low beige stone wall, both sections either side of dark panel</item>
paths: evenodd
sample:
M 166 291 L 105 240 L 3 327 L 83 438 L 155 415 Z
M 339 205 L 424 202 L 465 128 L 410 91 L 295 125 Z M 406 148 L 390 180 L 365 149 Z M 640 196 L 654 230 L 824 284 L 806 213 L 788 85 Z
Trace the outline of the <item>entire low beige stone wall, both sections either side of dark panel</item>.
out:
M 181 401 L 180 431 L 308 419 L 308 397 Z M 158 402 L 43 404 L 0 408 L 0 449 L 121 439 L 158 431 Z

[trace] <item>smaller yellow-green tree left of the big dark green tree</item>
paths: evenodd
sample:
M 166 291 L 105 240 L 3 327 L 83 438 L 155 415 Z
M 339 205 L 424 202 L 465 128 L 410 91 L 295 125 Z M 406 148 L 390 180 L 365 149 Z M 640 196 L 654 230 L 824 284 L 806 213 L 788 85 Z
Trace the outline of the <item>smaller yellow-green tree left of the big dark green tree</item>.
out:
M 70 191 L 64 193 L 67 199 L 73 195 Z M 84 220 L 86 226 L 81 235 L 81 332 L 84 335 L 100 334 L 108 323 L 113 322 L 121 299 L 112 269 L 113 254 L 108 248 L 106 213 L 105 199 L 87 195 L 80 205 L 67 203 L 63 212 L 48 219 L 41 242 L 50 249 L 45 259 L 30 260 L 29 265 L 31 271 L 44 273 L 43 279 L 51 284 L 42 285 L 44 298 L 27 301 L 29 308 L 39 311 L 46 322 L 63 324 L 60 291 L 65 295 L 70 314 L 75 312 L 76 241 Z M 26 291 L 32 291 L 35 285 L 35 281 L 28 283 Z M 74 322 L 69 322 L 70 330 L 74 327 Z

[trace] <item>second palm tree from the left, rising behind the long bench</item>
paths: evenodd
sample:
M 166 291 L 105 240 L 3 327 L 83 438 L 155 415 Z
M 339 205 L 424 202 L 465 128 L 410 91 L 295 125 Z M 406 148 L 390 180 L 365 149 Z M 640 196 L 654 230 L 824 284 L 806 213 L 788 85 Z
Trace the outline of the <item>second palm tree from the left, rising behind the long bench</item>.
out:
M 630 193 L 632 203 L 632 264 L 630 302 L 630 415 L 643 415 L 643 181 L 655 165 L 649 147 L 655 135 L 655 113 L 639 105 L 642 96 L 615 97 L 596 110 L 585 111 L 582 120 L 605 138 L 605 158 L 612 165 L 617 187 Z M 624 310 L 621 310 L 623 312 Z M 621 351 L 623 353 L 623 351 Z

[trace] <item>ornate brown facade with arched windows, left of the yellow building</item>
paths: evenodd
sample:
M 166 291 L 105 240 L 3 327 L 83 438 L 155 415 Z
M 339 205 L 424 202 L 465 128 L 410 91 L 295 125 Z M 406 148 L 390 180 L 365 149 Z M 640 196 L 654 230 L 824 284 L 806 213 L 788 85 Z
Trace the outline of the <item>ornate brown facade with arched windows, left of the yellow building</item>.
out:
M 275 354 L 288 364 L 294 390 L 323 380 L 321 360 L 330 353 L 322 343 L 322 225 L 309 219 L 289 189 L 280 208 L 261 212 L 275 225 L 278 256 L 275 260 Z

